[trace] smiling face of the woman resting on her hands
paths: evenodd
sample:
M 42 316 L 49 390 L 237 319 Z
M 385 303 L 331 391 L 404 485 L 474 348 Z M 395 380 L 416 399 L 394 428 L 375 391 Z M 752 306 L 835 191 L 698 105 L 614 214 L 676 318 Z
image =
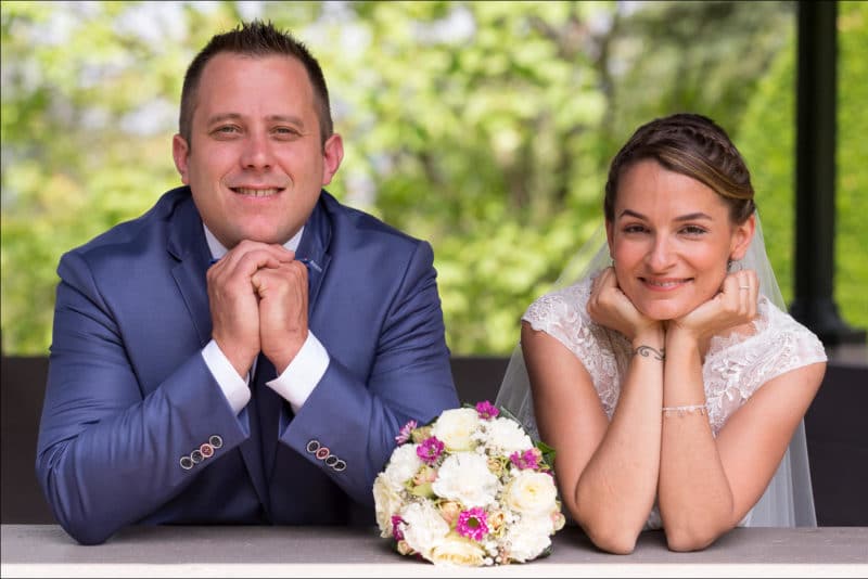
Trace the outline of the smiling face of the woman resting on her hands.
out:
M 694 310 L 720 288 L 752 230 L 730 221 L 727 203 L 700 181 L 653 159 L 620 180 L 609 247 L 621 290 L 654 320 Z

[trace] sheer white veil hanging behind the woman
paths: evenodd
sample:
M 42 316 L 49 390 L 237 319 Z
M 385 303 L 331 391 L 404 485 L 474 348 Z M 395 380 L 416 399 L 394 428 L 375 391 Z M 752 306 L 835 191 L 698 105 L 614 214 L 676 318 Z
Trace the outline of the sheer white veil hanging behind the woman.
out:
M 756 218 L 756 230 L 748 253 L 741 260 L 741 266 L 743 269 L 756 271 L 756 275 L 760 279 L 760 292 L 782 311 L 787 311 L 775 272 L 766 255 L 765 239 L 760 226 L 760 214 L 754 213 L 754 216 Z M 551 291 L 572 285 L 608 267 L 609 263 L 605 229 L 600 226 L 579 249 L 578 254 L 570 260 L 561 276 L 554 282 Z M 532 436 L 539 438 L 521 344 L 515 346 L 512 351 L 495 403 L 512 412 L 525 425 Z M 768 488 L 750 511 L 743 525 L 748 527 L 817 526 L 804 420 L 799 423 L 799 427 L 795 429 L 790 446 Z

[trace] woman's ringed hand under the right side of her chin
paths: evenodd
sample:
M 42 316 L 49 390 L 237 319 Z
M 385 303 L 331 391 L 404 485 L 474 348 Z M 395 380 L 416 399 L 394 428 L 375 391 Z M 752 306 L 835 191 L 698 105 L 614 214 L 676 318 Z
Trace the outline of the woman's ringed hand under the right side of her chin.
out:
M 689 336 L 698 343 L 707 343 L 712 336 L 753 320 L 758 296 L 760 282 L 755 271 L 729 273 L 714 297 L 667 323 L 667 338 L 675 333 Z

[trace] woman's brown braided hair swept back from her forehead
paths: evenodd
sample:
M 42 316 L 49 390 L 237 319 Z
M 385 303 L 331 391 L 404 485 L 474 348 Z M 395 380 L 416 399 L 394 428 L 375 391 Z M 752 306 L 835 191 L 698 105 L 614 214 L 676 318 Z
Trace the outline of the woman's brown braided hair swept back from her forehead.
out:
M 612 159 L 603 200 L 607 221 L 614 221 L 621 176 L 649 158 L 720 195 L 733 223 L 743 223 L 756 208 L 751 173 L 726 131 L 702 115 L 677 113 L 639 127 Z

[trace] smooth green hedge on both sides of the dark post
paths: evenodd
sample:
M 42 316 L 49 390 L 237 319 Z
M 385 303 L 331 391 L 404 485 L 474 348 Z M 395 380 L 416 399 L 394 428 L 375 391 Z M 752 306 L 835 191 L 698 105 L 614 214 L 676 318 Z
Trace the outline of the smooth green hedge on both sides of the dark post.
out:
M 835 183 L 834 299 L 841 318 L 868 326 L 868 3 L 840 2 L 838 15 L 838 147 Z M 751 168 L 766 246 L 784 300 L 793 299 L 795 234 L 795 38 L 782 51 L 741 119 L 740 150 Z

